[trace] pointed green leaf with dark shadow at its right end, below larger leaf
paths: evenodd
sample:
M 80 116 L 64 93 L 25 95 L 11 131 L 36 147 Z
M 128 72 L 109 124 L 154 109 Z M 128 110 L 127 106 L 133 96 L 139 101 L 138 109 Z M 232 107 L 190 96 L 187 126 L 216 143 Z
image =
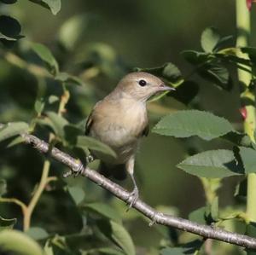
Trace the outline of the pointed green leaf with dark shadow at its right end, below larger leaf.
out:
M 243 174 L 233 152 L 226 149 L 195 154 L 183 160 L 177 167 L 197 177 L 223 178 Z

